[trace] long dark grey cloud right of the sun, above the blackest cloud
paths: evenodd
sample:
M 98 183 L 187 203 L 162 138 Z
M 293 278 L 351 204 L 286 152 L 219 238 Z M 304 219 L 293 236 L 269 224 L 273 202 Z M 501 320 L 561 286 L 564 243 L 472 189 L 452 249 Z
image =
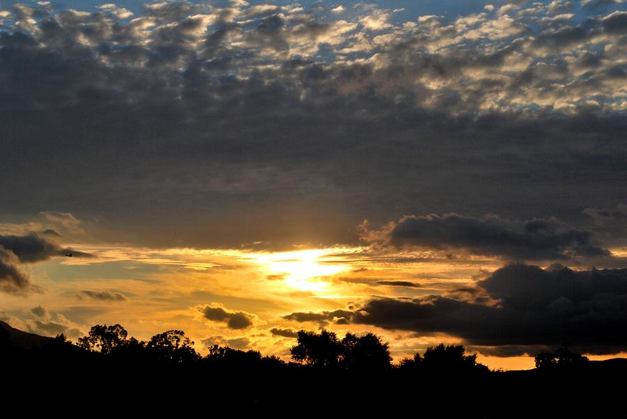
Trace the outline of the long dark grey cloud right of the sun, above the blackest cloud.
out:
M 366 239 L 368 235 L 372 232 L 366 233 Z M 385 228 L 382 237 L 394 246 L 460 249 L 514 260 L 610 255 L 594 243 L 591 232 L 568 228 L 556 219 L 512 222 L 494 215 L 481 219 L 458 214 L 405 216 Z

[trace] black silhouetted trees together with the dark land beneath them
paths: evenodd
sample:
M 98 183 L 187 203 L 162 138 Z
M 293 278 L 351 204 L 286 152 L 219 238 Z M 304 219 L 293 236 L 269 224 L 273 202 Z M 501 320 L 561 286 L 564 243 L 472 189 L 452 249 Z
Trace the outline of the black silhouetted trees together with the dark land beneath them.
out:
M 201 355 L 182 330 L 144 341 L 120 324 L 92 326 L 75 343 L 57 335 L 40 349 L 8 343 L 0 335 L 0 370 L 10 377 L 5 400 L 28 388 L 50 403 L 71 395 L 93 410 L 96 397 L 105 407 L 128 404 L 138 413 L 158 414 L 169 409 L 162 402 L 176 401 L 176 409 L 228 405 L 327 414 L 331 406 L 371 413 L 419 405 L 430 413 L 426 417 L 444 411 L 444 418 L 517 418 L 543 417 L 534 411 L 536 404 L 559 402 L 557 417 L 578 417 L 589 413 L 595 397 L 610 397 L 620 388 L 612 380 L 626 371 L 590 368 L 591 361 L 568 347 L 541 352 L 528 371 L 490 370 L 463 345 L 428 347 L 393 363 L 389 344 L 378 335 L 339 338 L 328 330 L 299 331 L 288 361 L 219 345 Z M 598 417 L 600 405 L 594 409 Z

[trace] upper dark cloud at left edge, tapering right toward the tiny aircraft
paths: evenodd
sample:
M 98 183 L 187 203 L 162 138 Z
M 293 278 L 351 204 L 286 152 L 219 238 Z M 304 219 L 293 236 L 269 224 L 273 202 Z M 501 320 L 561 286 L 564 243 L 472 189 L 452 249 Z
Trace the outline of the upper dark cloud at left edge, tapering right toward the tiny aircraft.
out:
M 72 253 L 75 258 L 91 258 L 89 253 L 74 251 L 71 248 L 62 248 L 58 244 L 40 237 L 35 233 L 24 236 L 0 235 L 0 246 L 12 251 L 20 258 L 20 262 L 31 263 L 48 260 L 55 256 L 65 256 Z

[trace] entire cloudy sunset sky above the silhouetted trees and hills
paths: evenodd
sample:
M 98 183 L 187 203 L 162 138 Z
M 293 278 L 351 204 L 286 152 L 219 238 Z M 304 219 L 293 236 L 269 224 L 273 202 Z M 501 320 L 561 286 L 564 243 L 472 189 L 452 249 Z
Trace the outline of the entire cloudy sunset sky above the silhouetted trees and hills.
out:
M 626 1 L 1 0 L 0 86 L 18 329 L 627 356 Z

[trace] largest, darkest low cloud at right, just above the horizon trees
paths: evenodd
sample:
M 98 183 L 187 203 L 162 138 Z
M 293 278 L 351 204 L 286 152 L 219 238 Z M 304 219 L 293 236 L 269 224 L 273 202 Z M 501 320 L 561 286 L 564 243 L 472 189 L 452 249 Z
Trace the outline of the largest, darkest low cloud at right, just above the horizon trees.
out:
M 544 270 L 512 264 L 479 281 L 477 290 L 490 302 L 447 295 L 372 299 L 346 319 L 419 334 L 447 333 L 477 347 L 510 345 L 509 351 L 518 354 L 525 347 L 564 342 L 593 354 L 627 350 L 622 333 L 627 328 L 627 269 Z M 307 314 L 328 319 L 331 313 Z

